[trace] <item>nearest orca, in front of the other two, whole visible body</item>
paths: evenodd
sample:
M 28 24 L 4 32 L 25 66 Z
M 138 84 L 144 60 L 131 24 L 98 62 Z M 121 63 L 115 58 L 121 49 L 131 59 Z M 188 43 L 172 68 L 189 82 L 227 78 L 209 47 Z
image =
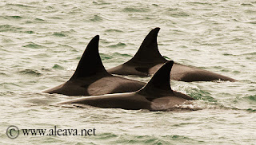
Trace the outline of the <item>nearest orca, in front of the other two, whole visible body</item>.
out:
M 168 61 L 151 80 L 137 92 L 87 96 L 75 100 L 67 100 L 57 104 L 86 104 L 98 108 L 122 108 L 128 110 L 148 109 L 150 111 L 170 111 L 194 100 L 170 88 L 170 70 L 174 61 Z

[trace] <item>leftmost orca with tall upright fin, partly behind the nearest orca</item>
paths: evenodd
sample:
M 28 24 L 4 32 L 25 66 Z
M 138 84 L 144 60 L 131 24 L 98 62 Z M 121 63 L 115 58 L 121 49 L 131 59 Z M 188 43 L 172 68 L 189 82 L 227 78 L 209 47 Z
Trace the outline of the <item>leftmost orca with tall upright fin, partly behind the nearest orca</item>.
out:
M 98 53 L 98 41 L 99 36 L 97 35 L 87 45 L 70 80 L 43 92 L 66 96 L 92 96 L 134 92 L 142 88 L 145 85 L 144 82 L 113 76 L 106 72 Z

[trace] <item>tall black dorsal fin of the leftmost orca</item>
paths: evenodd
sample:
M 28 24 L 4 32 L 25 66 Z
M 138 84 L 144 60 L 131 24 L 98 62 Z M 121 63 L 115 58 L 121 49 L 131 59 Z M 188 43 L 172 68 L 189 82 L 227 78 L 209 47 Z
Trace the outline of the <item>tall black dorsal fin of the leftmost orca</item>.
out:
M 106 69 L 102 64 L 102 59 L 99 56 L 98 41 L 98 35 L 91 39 L 91 41 L 86 47 L 86 50 L 82 54 L 77 69 L 75 70 L 71 79 L 78 77 L 93 76 L 97 73 L 110 75 L 108 72 L 106 72 Z

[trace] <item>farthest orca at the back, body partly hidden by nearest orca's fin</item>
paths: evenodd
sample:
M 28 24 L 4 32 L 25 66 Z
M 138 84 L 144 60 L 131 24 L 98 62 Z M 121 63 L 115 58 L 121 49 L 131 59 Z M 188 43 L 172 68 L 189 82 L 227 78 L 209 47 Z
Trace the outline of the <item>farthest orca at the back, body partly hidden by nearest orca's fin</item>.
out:
M 107 69 L 107 72 L 118 75 L 152 76 L 162 64 L 167 62 L 166 58 L 162 57 L 158 50 L 157 37 L 159 30 L 160 28 L 155 28 L 150 31 L 142 42 L 138 52 L 130 61 L 112 69 Z M 170 79 L 186 82 L 213 80 L 236 81 L 227 76 L 192 66 L 181 65 L 176 62 L 171 69 Z

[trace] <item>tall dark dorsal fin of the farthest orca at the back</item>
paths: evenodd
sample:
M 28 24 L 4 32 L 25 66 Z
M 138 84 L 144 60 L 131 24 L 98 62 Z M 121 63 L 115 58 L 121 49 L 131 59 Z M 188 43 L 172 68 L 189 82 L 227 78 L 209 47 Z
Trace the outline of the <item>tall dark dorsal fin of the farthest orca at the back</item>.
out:
M 145 37 L 142 45 L 139 47 L 138 52 L 127 63 L 136 62 L 166 62 L 158 50 L 158 32 L 160 28 L 155 28 Z

